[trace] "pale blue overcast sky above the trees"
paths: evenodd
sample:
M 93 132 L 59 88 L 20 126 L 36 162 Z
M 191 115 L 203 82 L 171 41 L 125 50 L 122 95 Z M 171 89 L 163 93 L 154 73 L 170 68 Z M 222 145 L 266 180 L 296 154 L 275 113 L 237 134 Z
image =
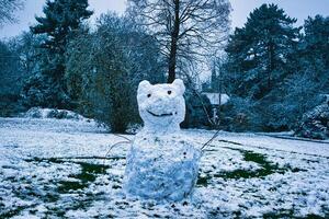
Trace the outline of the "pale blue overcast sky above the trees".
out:
M 90 9 L 94 11 L 92 20 L 106 11 L 123 13 L 126 0 L 89 0 Z M 329 0 L 230 0 L 232 5 L 232 27 L 242 26 L 249 13 L 262 3 L 276 3 L 285 12 L 298 19 L 297 24 L 302 25 L 304 20 L 310 15 L 322 14 L 329 16 Z M 42 15 L 45 0 L 26 0 L 25 9 L 16 12 L 20 20 L 16 24 L 8 24 L 0 28 L 0 38 L 11 37 L 27 31 L 29 26 L 35 23 L 35 14 Z

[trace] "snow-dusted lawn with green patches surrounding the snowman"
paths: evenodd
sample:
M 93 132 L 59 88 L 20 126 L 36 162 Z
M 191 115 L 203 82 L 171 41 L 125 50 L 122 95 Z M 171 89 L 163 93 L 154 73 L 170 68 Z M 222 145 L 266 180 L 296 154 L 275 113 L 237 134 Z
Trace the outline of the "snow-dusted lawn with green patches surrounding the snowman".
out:
M 128 145 L 106 153 L 123 140 L 93 122 L 0 118 L 0 218 L 329 217 L 329 143 L 220 132 L 193 196 L 155 203 L 122 193 Z

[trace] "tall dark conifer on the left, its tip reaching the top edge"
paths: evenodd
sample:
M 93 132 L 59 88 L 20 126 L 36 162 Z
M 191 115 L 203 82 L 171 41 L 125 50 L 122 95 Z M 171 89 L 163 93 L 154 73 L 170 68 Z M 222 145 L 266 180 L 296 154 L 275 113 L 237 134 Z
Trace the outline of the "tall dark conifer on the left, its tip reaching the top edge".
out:
M 31 27 L 33 34 L 46 35 L 41 43 L 41 73 L 34 76 L 25 88 L 25 103 L 49 107 L 70 108 L 65 76 L 65 51 L 67 44 L 83 20 L 88 19 L 88 0 L 47 0 L 44 7 L 45 16 L 37 16 L 38 24 Z M 33 96 L 39 96 L 34 100 Z M 32 97 L 32 99 L 30 99 Z M 30 100 L 29 100 L 30 99 Z

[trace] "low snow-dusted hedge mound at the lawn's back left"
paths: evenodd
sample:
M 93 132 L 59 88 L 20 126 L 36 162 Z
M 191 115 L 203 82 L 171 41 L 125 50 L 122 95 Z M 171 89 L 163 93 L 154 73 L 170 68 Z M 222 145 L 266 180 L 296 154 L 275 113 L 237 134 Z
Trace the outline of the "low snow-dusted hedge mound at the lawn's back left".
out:
M 23 114 L 26 118 L 57 118 L 73 120 L 90 120 L 80 114 L 67 110 L 32 107 Z

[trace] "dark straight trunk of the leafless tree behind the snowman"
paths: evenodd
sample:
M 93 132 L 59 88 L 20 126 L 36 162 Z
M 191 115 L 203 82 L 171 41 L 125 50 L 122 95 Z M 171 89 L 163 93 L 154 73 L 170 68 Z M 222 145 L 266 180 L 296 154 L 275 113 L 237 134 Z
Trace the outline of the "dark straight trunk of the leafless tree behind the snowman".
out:
M 177 47 L 178 36 L 180 33 L 180 0 L 174 0 L 174 21 L 173 30 L 171 32 L 171 45 L 169 55 L 168 68 L 168 83 L 172 83 L 175 79 L 175 65 L 177 65 Z

